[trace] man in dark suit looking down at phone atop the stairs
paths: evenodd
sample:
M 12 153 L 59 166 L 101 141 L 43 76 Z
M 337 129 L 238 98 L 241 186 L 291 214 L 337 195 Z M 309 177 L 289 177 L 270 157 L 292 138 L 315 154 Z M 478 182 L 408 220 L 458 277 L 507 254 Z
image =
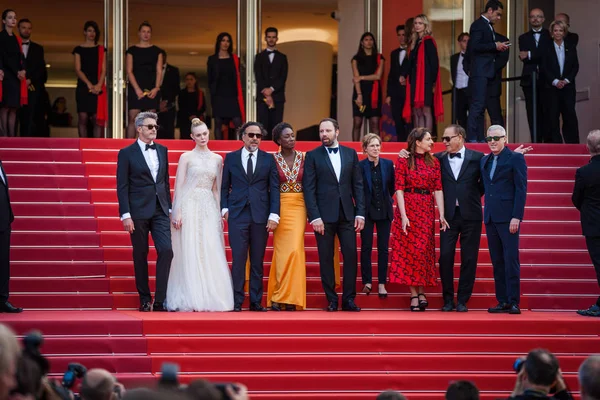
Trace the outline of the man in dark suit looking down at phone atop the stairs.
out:
M 469 58 L 469 90 L 471 103 L 467 122 L 469 142 L 482 142 L 483 114 L 490 80 L 496 76 L 494 60 L 498 53 L 508 50 L 509 43 L 496 38 L 493 24 L 502 18 L 504 7 L 498 0 L 488 0 L 485 12 L 471 24 L 467 53 Z

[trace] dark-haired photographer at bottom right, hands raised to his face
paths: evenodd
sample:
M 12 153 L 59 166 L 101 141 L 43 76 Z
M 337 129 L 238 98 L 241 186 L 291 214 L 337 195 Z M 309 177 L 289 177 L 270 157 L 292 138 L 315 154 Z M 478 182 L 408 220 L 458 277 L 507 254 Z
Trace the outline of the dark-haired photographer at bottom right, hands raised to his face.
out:
M 509 400 L 573 399 L 558 360 L 548 350 L 530 351 L 527 358 L 515 362 L 514 369 L 518 371 L 517 382 Z

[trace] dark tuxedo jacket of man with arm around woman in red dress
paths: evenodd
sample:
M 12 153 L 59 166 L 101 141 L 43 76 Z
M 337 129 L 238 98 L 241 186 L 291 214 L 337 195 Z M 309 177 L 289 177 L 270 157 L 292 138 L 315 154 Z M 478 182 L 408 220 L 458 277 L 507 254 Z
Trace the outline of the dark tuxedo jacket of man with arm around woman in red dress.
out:
M 454 177 L 447 152 L 435 153 L 442 169 L 442 189 L 444 191 L 444 210 L 446 219 L 454 218 L 456 200 L 460 214 L 467 221 L 481 221 L 481 196 L 484 193 L 480 163 L 484 154 L 465 148 L 465 159 L 460 168 L 458 179 Z

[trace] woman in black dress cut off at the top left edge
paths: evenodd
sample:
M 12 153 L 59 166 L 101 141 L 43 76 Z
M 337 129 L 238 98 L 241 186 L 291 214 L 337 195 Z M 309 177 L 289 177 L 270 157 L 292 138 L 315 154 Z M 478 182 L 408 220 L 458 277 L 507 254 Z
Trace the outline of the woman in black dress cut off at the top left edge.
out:
M 0 136 L 15 136 L 17 109 L 27 96 L 21 96 L 21 85 L 25 81 L 25 57 L 17 37 L 17 13 L 4 10 L 0 32 L 0 65 L 2 74 L 2 101 L 0 102 Z M 25 103 L 26 104 L 26 103 Z

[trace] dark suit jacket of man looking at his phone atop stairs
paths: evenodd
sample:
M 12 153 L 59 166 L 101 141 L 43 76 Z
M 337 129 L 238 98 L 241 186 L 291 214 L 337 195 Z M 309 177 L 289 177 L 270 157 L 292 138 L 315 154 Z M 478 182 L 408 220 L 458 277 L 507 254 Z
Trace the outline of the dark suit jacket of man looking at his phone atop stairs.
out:
M 465 67 L 465 71 L 469 71 L 469 76 L 472 78 L 493 78 L 495 75 L 494 59 L 499 53 L 496 50 L 498 39 L 494 40 L 488 20 L 479 17 L 473 22 L 469 36 L 469 45 L 467 46 L 469 66 Z

